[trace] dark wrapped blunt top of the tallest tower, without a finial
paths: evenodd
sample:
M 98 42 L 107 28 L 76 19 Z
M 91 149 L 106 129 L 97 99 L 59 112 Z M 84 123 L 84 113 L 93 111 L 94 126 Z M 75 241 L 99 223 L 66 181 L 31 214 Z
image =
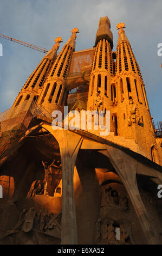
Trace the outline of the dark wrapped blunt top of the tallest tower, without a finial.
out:
M 95 46 L 101 39 L 106 39 L 113 48 L 113 34 L 111 32 L 111 22 L 107 16 L 101 17 L 99 21 L 99 28 L 96 33 Z

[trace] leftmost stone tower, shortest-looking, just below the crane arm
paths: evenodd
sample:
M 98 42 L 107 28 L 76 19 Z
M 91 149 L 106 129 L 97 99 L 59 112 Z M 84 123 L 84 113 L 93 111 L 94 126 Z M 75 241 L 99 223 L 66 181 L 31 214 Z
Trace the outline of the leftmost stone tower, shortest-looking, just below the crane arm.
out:
M 57 57 L 57 50 L 60 47 L 62 38 L 58 36 L 54 41 L 55 45 L 53 45 L 53 48 L 46 54 L 46 56 L 43 57 L 40 64 L 38 64 L 33 73 L 29 76 L 27 82 L 25 82 L 21 92 L 18 94 L 14 104 L 11 107 L 9 116 L 12 116 L 15 111 L 22 111 L 22 109 L 24 111 L 24 106 L 22 108 L 22 103 L 25 105 L 30 105 L 31 101 L 34 100 L 36 102 L 38 100 L 38 96 L 43 88 L 43 83 L 46 80 L 51 66 Z M 21 107 L 19 107 L 20 105 Z

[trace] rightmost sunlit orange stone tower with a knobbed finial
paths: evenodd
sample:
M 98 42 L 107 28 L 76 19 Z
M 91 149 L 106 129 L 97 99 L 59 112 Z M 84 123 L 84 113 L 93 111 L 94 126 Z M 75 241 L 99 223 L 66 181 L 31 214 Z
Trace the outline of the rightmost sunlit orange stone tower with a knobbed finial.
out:
M 148 107 L 145 84 L 131 44 L 125 35 L 125 24 L 119 23 L 115 79 L 118 135 L 134 139 L 141 152 L 158 163 L 155 133 Z M 113 94 L 113 93 L 112 93 Z

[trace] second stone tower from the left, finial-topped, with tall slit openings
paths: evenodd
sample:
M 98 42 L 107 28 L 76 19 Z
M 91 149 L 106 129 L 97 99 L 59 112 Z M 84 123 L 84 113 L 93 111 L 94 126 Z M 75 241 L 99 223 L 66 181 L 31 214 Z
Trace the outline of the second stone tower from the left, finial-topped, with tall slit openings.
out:
M 78 28 L 72 29 L 72 35 L 52 66 L 38 99 L 38 104 L 41 104 L 50 114 L 57 109 L 63 111 L 63 105 L 67 99 L 66 75 L 75 51 L 76 33 L 79 33 Z

